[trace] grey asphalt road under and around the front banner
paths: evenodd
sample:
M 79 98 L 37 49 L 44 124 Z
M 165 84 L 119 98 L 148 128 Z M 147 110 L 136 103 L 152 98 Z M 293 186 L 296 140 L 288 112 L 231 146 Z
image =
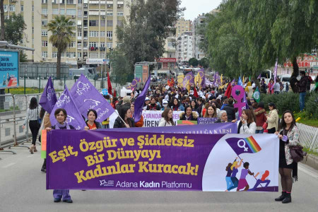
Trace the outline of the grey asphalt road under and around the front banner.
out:
M 40 153 L 13 148 L 0 152 L 0 211 L 318 211 L 318 171 L 300 164 L 290 204 L 278 193 L 254 192 L 119 192 L 71 190 L 73 204 L 54 203 L 40 172 Z M 281 189 L 280 189 L 281 190 Z

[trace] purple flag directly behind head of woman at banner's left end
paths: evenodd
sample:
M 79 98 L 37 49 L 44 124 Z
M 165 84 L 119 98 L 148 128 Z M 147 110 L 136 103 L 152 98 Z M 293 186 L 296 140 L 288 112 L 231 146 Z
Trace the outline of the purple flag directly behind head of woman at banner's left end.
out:
M 57 124 L 57 119 L 54 116 L 54 112 L 58 108 L 64 108 L 64 110 L 66 110 L 66 122 L 68 124 L 74 126 L 74 128 L 77 130 L 84 129 L 86 123 L 84 122 L 81 112 L 79 112 L 78 108 L 76 107 L 71 93 L 69 93 L 69 90 L 67 90 L 66 86 L 64 92 L 59 97 L 59 100 L 57 100 L 57 103 L 54 105 L 52 113 L 49 115 L 49 121 L 51 122 L 52 126 Z

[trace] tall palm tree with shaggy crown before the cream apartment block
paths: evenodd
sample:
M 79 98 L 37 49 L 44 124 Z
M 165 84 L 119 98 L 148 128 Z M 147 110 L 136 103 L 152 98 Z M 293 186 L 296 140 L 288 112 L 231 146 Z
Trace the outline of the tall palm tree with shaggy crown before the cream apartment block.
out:
M 52 32 L 49 42 L 57 48 L 57 78 L 61 76 L 61 54 L 66 51 L 73 35 L 73 23 L 70 19 L 66 16 L 55 16 L 55 19 L 47 24 Z

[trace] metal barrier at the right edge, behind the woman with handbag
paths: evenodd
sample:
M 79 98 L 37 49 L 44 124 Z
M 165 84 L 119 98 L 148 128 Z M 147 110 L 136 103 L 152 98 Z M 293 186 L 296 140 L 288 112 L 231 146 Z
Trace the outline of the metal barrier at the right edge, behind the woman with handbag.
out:
M 305 124 L 297 124 L 300 131 L 299 140 L 302 146 L 318 153 L 318 128 Z

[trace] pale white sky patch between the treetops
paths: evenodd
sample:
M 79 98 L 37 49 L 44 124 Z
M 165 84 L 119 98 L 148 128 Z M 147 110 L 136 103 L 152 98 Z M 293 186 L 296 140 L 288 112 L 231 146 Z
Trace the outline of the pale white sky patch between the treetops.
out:
M 182 0 L 181 7 L 185 7 L 184 19 L 194 20 L 201 13 L 208 13 L 217 8 L 222 0 Z

